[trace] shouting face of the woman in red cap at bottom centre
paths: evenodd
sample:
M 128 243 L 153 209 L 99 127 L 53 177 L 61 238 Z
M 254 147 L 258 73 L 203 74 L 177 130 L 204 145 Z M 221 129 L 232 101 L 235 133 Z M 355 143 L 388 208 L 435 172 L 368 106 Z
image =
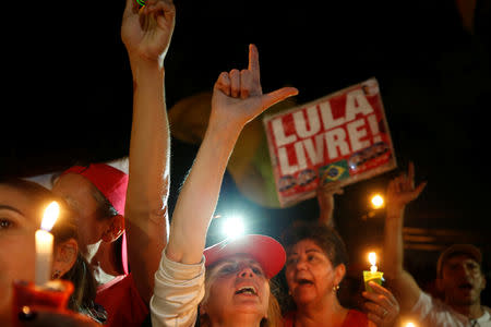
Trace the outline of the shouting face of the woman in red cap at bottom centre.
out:
M 212 322 L 249 314 L 259 322 L 267 314 L 270 282 L 260 264 L 249 256 L 233 256 L 216 264 L 207 280 L 202 314 Z M 251 315 L 252 314 L 252 315 Z

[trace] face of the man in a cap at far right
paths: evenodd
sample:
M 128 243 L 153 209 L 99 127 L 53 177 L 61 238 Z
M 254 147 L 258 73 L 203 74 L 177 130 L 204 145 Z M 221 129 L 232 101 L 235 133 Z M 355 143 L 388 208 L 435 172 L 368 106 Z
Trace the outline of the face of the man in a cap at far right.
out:
M 475 259 L 456 255 L 444 263 L 440 286 L 448 304 L 470 305 L 479 303 L 486 279 Z

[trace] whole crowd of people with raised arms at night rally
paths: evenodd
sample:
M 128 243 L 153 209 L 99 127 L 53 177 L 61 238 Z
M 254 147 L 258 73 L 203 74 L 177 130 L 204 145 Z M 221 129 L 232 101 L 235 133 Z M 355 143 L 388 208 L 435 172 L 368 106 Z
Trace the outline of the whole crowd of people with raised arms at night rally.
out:
M 426 186 L 415 185 L 412 165 L 387 185 L 386 282 L 370 282 L 362 310 L 338 299 L 348 265 L 347 245 L 332 219 L 339 189 L 320 187 L 320 219 L 299 220 L 280 241 L 248 234 L 205 249 L 241 130 L 298 93 L 263 93 L 254 45 L 248 68 L 223 72 L 214 85 L 205 136 L 169 219 L 164 59 L 175 20 L 169 0 L 127 0 L 121 36 L 134 85 L 128 174 L 91 162 L 63 171 L 52 190 L 19 178 L 0 180 L 1 326 L 388 327 L 399 326 L 404 315 L 420 326 L 491 326 L 490 308 L 480 302 L 486 278 L 476 246 L 455 244 L 440 256 L 442 300 L 423 292 L 404 269 L 405 207 Z M 71 281 L 74 291 L 64 311 L 40 305 L 14 312 L 12 284 L 34 280 L 34 233 L 51 201 L 61 206 L 51 278 Z M 274 291 L 278 274 L 285 274 L 287 299 Z

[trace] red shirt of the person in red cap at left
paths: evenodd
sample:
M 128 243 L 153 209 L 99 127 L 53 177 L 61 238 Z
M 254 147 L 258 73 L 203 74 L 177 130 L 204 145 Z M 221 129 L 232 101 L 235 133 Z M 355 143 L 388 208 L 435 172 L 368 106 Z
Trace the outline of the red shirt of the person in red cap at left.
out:
M 109 327 L 140 327 L 148 314 L 131 274 L 98 287 L 95 302 L 106 310 Z

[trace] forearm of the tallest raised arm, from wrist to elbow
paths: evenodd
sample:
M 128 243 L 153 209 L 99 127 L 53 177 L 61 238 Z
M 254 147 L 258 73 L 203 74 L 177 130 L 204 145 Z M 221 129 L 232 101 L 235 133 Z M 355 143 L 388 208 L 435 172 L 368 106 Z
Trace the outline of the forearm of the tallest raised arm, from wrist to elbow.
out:
M 127 207 L 161 214 L 169 189 L 170 137 L 165 104 L 164 68 L 141 63 L 133 70 L 133 123 Z M 133 221 L 144 223 L 146 221 Z

